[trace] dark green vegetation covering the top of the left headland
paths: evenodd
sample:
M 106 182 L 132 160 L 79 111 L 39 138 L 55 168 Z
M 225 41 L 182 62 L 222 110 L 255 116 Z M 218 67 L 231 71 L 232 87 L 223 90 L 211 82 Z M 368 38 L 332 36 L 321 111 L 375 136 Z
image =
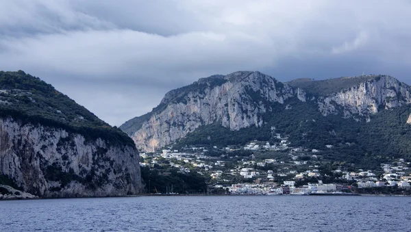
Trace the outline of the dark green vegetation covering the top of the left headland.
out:
M 110 127 L 78 105 L 68 96 L 58 92 L 38 77 L 23 71 L 0 71 L 0 117 L 11 116 L 21 123 L 63 128 L 80 133 L 86 139 L 102 138 L 108 144 L 128 144 L 134 142 L 116 127 Z

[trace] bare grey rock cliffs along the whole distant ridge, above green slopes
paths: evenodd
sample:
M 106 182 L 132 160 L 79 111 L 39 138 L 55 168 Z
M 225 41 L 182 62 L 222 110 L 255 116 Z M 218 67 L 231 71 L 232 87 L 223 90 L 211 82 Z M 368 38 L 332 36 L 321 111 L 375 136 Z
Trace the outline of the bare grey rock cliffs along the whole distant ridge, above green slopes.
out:
M 153 112 L 133 118 L 120 128 L 138 149 L 154 151 L 171 144 L 203 125 L 219 123 L 231 130 L 261 127 L 273 104 L 293 110 L 295 99 L 314 105 L 327 116 L 369 120 L 379 109 L 410 103 L 410 86 L 389 76 L 342 77 L 326 81 L 281 83 L 259 72 L 236 72 L 199 79 L 172 90 Z M 273 125 L 275 127 L 275 125 Z

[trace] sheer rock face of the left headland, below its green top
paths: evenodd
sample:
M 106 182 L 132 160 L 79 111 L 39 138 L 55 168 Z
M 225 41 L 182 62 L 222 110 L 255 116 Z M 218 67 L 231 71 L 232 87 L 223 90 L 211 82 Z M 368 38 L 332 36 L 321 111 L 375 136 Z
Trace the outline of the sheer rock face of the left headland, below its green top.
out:
M 0 172 L 42 197 L 124 196 L 140 192 L 133 146 L 0 119 Z

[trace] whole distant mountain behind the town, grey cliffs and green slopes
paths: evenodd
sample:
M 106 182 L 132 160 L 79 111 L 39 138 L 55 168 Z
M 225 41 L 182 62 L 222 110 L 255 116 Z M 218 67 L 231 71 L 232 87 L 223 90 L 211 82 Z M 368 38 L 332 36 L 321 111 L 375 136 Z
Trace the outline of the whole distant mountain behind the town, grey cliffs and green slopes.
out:
M 236 72 L 171 90 L 152 112 L 120 128 L 143 151 L 176 142 L 275 141 L 281 133 L 293 146 L 332 144 L 336 156 L 384 159 L 411 152 L 410 92 L 388 75 L 282 83 L 259 72 Z

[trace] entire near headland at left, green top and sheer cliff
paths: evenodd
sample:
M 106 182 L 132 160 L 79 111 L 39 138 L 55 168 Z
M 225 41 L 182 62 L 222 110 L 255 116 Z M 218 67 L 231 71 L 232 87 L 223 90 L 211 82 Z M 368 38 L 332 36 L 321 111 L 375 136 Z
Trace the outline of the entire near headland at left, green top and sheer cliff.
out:
M 141 188 L 134 142 L 38 77 L 0 71 L 0 184 L 41 197 Z

